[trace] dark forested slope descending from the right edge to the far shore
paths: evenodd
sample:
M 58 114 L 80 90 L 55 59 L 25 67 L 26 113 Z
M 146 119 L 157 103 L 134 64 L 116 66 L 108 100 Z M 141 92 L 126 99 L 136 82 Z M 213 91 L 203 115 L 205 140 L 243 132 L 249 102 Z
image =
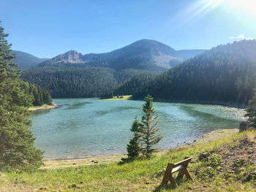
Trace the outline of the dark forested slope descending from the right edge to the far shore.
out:
M 145 83 L 146 79 L 146 83 Z M 139 89 L 133 89 L 136 85 Z M 246 105 L 256 88 L 256 41 L 219 45 L 157 77 L 124 82 L 115 93 L 143 99 Z M 129 92 L 125 92 L 129 91 Z

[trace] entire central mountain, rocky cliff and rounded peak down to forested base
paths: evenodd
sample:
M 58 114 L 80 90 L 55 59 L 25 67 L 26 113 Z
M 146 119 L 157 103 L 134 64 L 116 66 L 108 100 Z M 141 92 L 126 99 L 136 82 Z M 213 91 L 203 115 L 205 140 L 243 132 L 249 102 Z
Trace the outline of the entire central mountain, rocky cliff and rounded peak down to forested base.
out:
M 143 39 L 109 53 L 83 55 L 70 50 L 22 72 L 21 77 L 47 88 L 53 98 L 94 97 L 135 75 L 154 76 L 181 61 L 173 48 Z

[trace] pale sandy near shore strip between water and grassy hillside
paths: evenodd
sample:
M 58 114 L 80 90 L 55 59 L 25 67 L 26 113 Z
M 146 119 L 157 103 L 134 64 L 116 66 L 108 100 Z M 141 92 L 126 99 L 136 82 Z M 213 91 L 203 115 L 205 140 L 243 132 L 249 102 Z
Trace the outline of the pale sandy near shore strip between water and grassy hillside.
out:
M 237 134 L 239 132 L 238 128 L 233 129 L 219 129 L 215 131 L 211 131 L 208 134 L 202 135 L 201 138 L 192 143 L 184 143 L 184 145 L 180 145 L 178 147 L 189 147 L 193 145 L 204 145 L 208 142 L 213 142 L 217 139 L 224 139 L 225 137 L 229 137 L 233 134 Z M 175 150 L 177 147 L 172 147 L 166 150 L 160 150 L 156 155 L 162 155 L 163 153 L 167 153 L 170 150 Z M 95 165 L 95 164 L 111 164 L 117 163 L 121 160 L 121 158 L 126 157 L 126 155 L 107 155 L 107 156 L 95 156 L 89 158 L 69 158 L 69 159 L 56 159 L 56 160 L 44 160 L 44 166 L 40 169 L 59 169 L 70 166 L 87 166 L 87 165 Z

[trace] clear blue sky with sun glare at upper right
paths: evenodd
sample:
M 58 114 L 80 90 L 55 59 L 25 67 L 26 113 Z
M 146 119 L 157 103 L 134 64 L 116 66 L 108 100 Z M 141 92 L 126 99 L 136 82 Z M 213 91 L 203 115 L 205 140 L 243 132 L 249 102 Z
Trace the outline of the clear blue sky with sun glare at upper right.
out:
M 12 50 L 53 58 L 106 53 L 140 39 L 175 50 L 256 38 L 255 0 L 0 0 Z

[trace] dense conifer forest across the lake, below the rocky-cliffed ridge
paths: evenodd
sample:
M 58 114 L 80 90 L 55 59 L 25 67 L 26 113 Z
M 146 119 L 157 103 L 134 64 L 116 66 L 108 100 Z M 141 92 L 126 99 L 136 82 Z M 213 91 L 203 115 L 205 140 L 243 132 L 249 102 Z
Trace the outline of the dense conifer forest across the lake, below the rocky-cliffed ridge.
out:
M 104 67 L 58 63 L 23 71 L 21 78 L 46 88 L 53 98 L 78 98 L 99 97 L 103 93 L 110 93 L 129 77 L 148 73 L 147 70 L 116 71 Z

